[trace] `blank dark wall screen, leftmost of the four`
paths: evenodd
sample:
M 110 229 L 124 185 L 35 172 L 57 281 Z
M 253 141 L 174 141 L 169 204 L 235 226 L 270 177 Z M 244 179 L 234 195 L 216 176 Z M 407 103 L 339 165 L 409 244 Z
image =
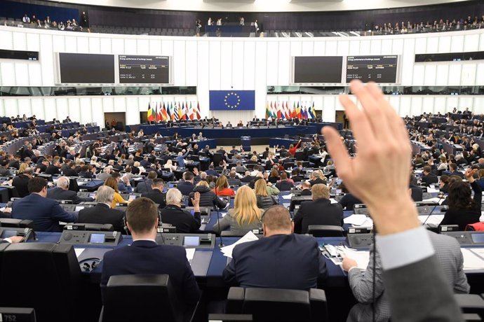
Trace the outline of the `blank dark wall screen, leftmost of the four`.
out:
M 59 53 L 60 83 L 114 83 L 114 55 Z

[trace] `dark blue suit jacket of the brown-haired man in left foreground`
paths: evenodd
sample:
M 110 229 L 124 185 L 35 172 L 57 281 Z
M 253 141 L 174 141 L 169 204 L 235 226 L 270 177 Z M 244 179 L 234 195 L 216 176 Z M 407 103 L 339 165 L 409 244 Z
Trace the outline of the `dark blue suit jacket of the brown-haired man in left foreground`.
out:
M 102 260 L 101 295 L 110 276 L 126 274 L 168 274 L 181 303 L 192 307 L 199 300 L 199 286 L 183 247 L 138 240 L 108 251 Z

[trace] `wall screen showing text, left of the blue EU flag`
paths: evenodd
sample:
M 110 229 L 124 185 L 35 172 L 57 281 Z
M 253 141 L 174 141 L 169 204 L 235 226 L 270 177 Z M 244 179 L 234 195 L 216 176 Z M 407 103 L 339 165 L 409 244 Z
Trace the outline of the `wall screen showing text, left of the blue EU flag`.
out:
M 168 56 L 119 55 L 119 83 L 170 83 Z

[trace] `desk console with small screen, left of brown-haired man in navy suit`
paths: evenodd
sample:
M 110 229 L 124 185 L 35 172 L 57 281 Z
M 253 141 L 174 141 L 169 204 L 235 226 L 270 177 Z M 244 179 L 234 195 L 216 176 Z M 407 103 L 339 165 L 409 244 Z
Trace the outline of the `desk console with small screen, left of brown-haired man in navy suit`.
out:
M 64 230 L 60 244 L 117 246 L 123 240 L 119 232 L 100 232 L 87 230 Z

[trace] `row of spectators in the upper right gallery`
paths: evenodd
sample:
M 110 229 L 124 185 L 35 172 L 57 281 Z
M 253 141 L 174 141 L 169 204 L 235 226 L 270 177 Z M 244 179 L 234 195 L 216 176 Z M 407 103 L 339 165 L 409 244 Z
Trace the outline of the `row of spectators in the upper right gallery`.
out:
M 394 25 L 391 22 L 383 25 L 376 25 L 374 32 L 377 34 L 411 34 L 417 32 L 432 32 L 432 31 L 458 31 L 469 29 L 480 29 L 484 27 L 484 15 L 481 18 L 477 16 L 472 18 L 470 15 L 467 18 L 460 18 L 450 20 L 433 20 L 432 22 L 404 22 L 400 24 L 396 22 Z

